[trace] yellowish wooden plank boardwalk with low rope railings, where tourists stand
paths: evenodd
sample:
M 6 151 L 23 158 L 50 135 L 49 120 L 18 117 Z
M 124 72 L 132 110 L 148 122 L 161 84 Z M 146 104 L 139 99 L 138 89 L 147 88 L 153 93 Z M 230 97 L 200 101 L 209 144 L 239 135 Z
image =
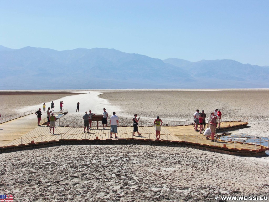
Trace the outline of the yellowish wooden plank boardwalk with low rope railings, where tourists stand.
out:
M 229 124 L 221 123 L 221 128 L 232 128 L 245 126 L 247 123 L 241 122 L 229 122 Z M 30 114 L 19 119 L 15 119 L 3 124 L 0 124 L 0 148 L 5 149 L 13 147 L 14 145 L 25 145 L 35 143 L 46 143 L 62 140 L 72 141 L 94 141 L 96 139 L 107 141 L 113 140 L 135 140 L 135 141 L 151 141 L 151 142 L 173 142 L 180 144 L 188 144 L 196 147 L 204 147 L 214 149 L 212 151 L 239 151 L 239 152 L 250 152 L 259 153 L 268 150 L 267 147 L 262 145 L 246 144 L 242 142 L 224 142 L 217 140 L 211 142 L 207 140 L 204 135 L 196 132 L 193 125 L 183 126 L 162 126 L 160 140 L 156 140 L 155 127 L 154 126 L 139 126 L 139 132 L 142 133 L 140 136 L 133 136 L 133 127 L 131 126 L 120 126 L 118 127 L 117 136 L 119 139 L 110 138 L 110 127 L 106 130 L 101 128 L 97 129 L 92 127 L 90 133 L 84 133 L 84 127 L 55 127 L 55 134 L 49 133 L 50 128 L 45 125 L 37 126 L 37 118 L 35 114 Z M 114 134 L 112 134 L 114 137 Z M 136 133 L 137 135 L 137 133 Z M 109 140 L 109 142 L 108 142 Z

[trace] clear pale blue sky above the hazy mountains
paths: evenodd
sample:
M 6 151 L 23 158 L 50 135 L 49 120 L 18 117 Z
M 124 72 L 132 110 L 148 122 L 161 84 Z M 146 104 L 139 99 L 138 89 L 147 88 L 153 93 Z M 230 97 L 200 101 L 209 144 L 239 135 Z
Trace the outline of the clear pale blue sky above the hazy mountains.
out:
M 268 0 L 0 0 L 0 45 L 269 65 Z

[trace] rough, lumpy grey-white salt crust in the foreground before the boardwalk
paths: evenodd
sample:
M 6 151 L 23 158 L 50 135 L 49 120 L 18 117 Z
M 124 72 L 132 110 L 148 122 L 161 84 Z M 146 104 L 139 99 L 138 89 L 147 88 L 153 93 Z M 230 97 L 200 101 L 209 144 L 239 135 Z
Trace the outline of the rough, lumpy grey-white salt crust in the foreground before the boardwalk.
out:
M 268 157 L 186 147 L 68 145 L 0 155 L 14 201 L 215 201 L 268 194 Z

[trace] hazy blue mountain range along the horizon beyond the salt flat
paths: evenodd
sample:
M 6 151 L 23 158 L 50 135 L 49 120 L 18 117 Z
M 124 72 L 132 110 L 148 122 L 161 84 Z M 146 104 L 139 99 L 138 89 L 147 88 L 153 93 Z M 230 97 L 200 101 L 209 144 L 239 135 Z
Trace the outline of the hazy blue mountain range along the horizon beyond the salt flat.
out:
M 269 88 L 269 66 L 160 60 L 107 48 L 0 45 L 0 89 Z

